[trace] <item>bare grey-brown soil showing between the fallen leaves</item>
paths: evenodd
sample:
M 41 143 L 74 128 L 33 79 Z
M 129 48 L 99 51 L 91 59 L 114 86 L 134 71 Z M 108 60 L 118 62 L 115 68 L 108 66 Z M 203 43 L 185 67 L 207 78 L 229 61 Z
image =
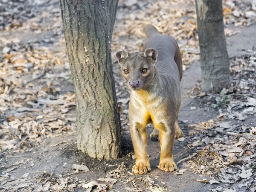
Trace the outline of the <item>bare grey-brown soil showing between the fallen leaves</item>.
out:
M 57 2 L 57 1 L 56 1 Z M 55 2 L 55 3 L 56 3 Z M 51 6 L 55 6 L 58 8 L 58 4 L 53 4 Z M 44 4 L 43 4 L 44 5 Z M 41 4 L 38 5 L 38 9 L 46 10 L 46 7 Z M 122 8 L 119 8 L 119 10 Z M 135 8 L 134 8 L 135 9 Z M 139 9 L 139 8 L 138 8 Z M 132 10 L 129 10 L 131 12 Z M 118 16 L 118 15 L 117 15 Z M 120 16 L 119 16 L 120 17 Z M 121 19 L 117 17 L 117 22 Z M 49 18 L 48 18 L 49 19 Z M 50 21 L 49 21 L 50 22 Z M 232 28 L 233 26 L 230 26 Z M 248 49 L 256 49 L 256 25 L 252 25 L 249 27 L 243 27 L 240 30 L 240 33 L 237 35 L 233 35 L 232 37 L 227 38 L 228 42 L 228 52 L 230 57 L 241 57 L 244 53 L 247 53 Z M 20 41 L 23 44 L 35 44 L 35 47 L 49 47 L 51 50 L 55 52 L 61 52 L 65 50 L 64 44 L 59 44 L 59 39 L 63 38 L 61 32 L 56 35 L 55 32 L 42 32 L 38 35 L 35 35 L 34 32 L 0 32 L 0 38 L 11 39 L 14 37 L 20 37 Z M 127 44 L 127 39 L 125 37 L 119 37 L 120 42 L 125 41 Z M 51 39 L 51 41 L 43 41 L 45 39 Z M 36 42 L 39 42 L 36 44 Z M 116 50 L 112 50 L 115 52 Z M 127 98 L 129 93 L 125 90 L 122 90 L 122 79 L 120 77 L 119 65 L 113 64 L 113 73 L 116 81 L 116 90 L 117 90 L 117 98 L 122 101 L 122 99 Z M 27 77 L 28 79 L 30 76 Z M 201 139 L 206 137 L 207 134 L 202 133 L 201 131 L 195 131 L 189 128 L 187 125 L 196 124 L 199 122 L 206 122 L 210 119 L 214 119 L 219 115 L 219 110 L 216 108 L 209 107 L 209 103 L 212 104 L 214 101 L 201 99 L 199 97 L 190 98 L 188 96 L 188 91 L 193 89 L 201 79 L 201 69 L 200 69 L 200 61 L 195 60 L 188 66 L 188 69 L 183 73 L 183 79 L 181 81 L 181 93 L 182 93 L 182 102 L 179 113 L 180 120 L 180 128 L 183 130 L 185 135 L 185 140 L 180 142 L 178 140 L 175 141 L 174 148 L 174 157 L 175 162 L 188 157 L 189 154 L 193 154 L 195 149 L 187 148 L 187 144 L 194 142 L 192 137 L 200 136 Z M 67 81 L 65 79 L 56 79 L 56 86 L 61 87 L 61 94 L 73 92 L 73 85 L 71 81 Z M 36 84 L 36 83 L 35 83 Z M 207 104 L 208 103 L 208 104 Z M 16 169 L 9 172 L 7 177 L 12 177 L 14 175 L 17 178 L 20 178 L 24 175 L 24 173 L 29 173 L 29 182 L 36 183 L 38 180 L 38 175 L 42 177 L 43 174 L 46 178 L 48 178 L 49 173 L 53 173 L 54 175 L 61 174 L 62 177 L 67 177 L 65 175 L 69 175 L 73 173 L 71 166 L 73 164 L 83 164 L 86 165 L 90 172 L 85 173 L 75 173 L 70 175 L 79 180 L 85 180 L 89 182 L 90 180 L 97 180 L 98 178 L 105 177 L 109 172 L 116 169 L 119 166 L 125 167 L 126 174 L 128 171 L 131 172 L 132 166 L 135 163 L 133 157 L 133 146 L 131 142 L 131 137 L 128 129 L 128 103 L 121 103 L 120 107 L 122 108 L 123 114 L 121 115 L 121 121 L 123 122 L 122 126 L 122 158 L 118 160 L 96 160 L 88 157 L 86 154 L 81 153 L 76 148 L 76 134 L 74 131 L 67 131 L 59 134 L 56 137 L 49 137 L 41 139 L 41 143 L 34 143 L 32 140 L 26 143 L 26 148 L 31 149 L 31 151 L 26 152 L 15 152 L 12 149 L 0 151 L 0 175 L 4 175 L 4 171 L 15 167 Z M 191 107 L 196 107 L 196 110 L 192 110 Z M 72 111 L 74 114 L 74 110 Z M 4 121 L 8 121 L 8 116 L 12 115 L 11 111 L 7 111 L 4 115 L 0 116 L 0 124 Z M 247 123 L 252 126 L 256 124 L 255 116 L 249 116 L 244 122 L 237 121 L 235 119 L 232 120 L 234 124 L 242 124 Z M 153 130 L 152 125 L 148 126 L 148 133 L 150 134 Z M 112 186 L 112 189 L 108 189 L 109 191 L 119 191 L 119 192 L 127 192 L 129 189 L 139 189 L 141 191 L 149 191 L 150 185 L 146 177 L 150 177 L 154 181 L 154 185 L 162 187 L 164 190 L 172 191 L 172 192 L 207 192 L 210 189 L 216 189 L 217 186 L 222 186 L 225 189 L 230 189 L 233 187 L 232 183 L 221 183 L 221 184 L 205 184 L 198 182 L 197 180 L 207 179 L 211 180 L 211 178 L 207 175 L 202 175 L 200 173 L 196 173 L 195 170 L 189 169 L 183 163 L 178 165 L 178 169 L 187 169 L 182 175 L 172 175 L 172 173 L 165 173 L 157 169 L 157 165 L 159 163 L 160 158 L 160 143 L 154 142 L 149 139 L 148 134 L 148 154 L 150 156 L 151 162 L 151 172 L 145 175 L 129 175 L 126 177 L 115 177 L 117 179 L 117 183 Z M 2 139 L 2 138 L 1 138 Z M 15 162 L 20 159 L 25 160 L 23 163 L 18 165 L 14 165 Z M 254 167 L 255 169 L 255 167 Z M 43 173 L 45 171 L 45 173 Z M 213 177 L 214 175 L 212 175 Z M 254 174 L 255 176 L 255 174 Z M 132 178 L 132 179 L 131 179 Z M 54 183 L 54 180 L 51 180 Z M 6 184 L 5 184 L 6 185 Z M 3 185 L 0 184 L 0 187 Z M 93 188 L 94 189 L 94 188 Z M 0 190 L 8 191 L 5 188 L 1 188 Z M 20 189 L 21 190 L 21 189 Z M 29 191 L 29 188 L 27 189 Z M 35 189 L 34 189 L 35 190 Z M 34 191 L 33 190 L 33 191 Z M 76 187 L 73 189 L 74 191 L 84 191 L 85 189 L 80 187 Z M 132 190 L 132 191 L 133 191 Z M 231 190 L 231 189 L 230 189 Z M 237 192 L 248 190 L 246 186 L 232 190 L 236 190 Z M 12 189 L 15 191 L 15 189 Z M 19 191 L 19 189 L 16 189 Z M 36 191 L 36 190 L 35 190 Z M 65 191 L 69 191 L 65 189 Z M 157 190 L 155 190 L 157 191 Z M 160 190 L 159 190 L 160 191 Z M 251 190 L 252 191 L 252 190 Z M 231 192 L 231 191 L 230 191 Z

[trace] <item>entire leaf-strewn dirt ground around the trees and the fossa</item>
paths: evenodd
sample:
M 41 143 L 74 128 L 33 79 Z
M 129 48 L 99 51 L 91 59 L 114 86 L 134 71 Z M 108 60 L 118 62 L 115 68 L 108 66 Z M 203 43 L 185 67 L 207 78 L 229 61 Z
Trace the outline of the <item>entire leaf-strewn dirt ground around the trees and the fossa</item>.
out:
M 194 1 L 120 1 L 112 38 L 121 110 L 122 158 L 96 160 L 76 149 L 73 84 L 57 0 L 1 2 L 0 191 L 254 192 L 256 189 L 256 14 L 254 1 L 224 0 L 232 85 L 200 88 Z M 27 6 L 24 6 L 26 4 Z M 166 22 L 164 22 L 166 21 Z M 157 169 L 160 143 L 149 139 L 151 172 L 134 175 L 129 93 L 114 54 L 141 49 L 146 23 L 173 35 L 183 55 L 175 173 Z M 35 80 L 33 80 L 35 78 Z M 32 81 L 33 80 L 33 81 Z M 148 133 L 153 130 L 148 125 Z M 73 164 L 90 170 L 72 169 Z M 100 180 L 98 180 L 100 179 Z

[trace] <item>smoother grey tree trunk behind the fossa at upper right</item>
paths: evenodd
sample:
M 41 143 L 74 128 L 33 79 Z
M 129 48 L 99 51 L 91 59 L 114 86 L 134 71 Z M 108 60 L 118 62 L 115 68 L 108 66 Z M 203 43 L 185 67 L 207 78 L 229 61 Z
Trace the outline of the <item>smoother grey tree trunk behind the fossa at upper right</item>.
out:
M 219 92 L 230 86 L 230 61 L 224 34 L 222 0 L 196 0 L 202 89 Z

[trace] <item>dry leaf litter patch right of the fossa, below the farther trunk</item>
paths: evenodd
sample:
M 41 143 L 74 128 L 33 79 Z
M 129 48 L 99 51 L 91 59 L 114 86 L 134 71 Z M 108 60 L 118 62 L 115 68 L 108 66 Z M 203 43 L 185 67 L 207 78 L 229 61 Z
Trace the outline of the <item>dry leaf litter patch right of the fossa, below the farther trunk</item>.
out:
M 201 136 L 196 135 L 195 142 L 188 145 L 198 152 L 185 166 L 211 177 L 210 184 L 229 183 L 236 189 L 253 191 L 256 184 L 256 51 L 249 50 L 247 55 L 231 58 L 230 70 L 230 89 L 201 98 L 198 97 L 199 83 L 188 92 L 188 96 L 198 98 L 202 108 L 203 105 L 214 108 L 219 115 L 207 122 L 187 125 Z M 226 189 L 218 191 L 223 190 Z

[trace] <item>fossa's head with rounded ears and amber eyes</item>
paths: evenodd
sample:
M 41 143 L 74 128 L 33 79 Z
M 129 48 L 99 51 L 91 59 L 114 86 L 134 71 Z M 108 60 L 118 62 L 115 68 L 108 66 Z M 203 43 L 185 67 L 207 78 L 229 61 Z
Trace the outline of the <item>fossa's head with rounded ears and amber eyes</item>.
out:
M 119 51 L 116 58 L 128 89 L 140 90 L 153 80 L 157 61 L 155 49 L 146 49 L 144 53 L 134 52 L 129 56 L 127 52 Z

